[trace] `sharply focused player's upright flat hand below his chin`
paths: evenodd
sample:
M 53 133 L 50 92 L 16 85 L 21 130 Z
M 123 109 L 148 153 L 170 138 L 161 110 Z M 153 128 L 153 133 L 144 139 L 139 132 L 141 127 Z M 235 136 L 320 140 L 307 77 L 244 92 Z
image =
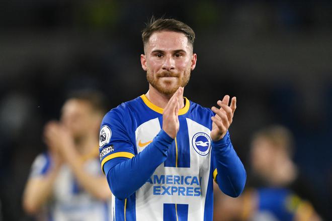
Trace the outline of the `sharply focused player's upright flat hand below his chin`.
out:
M 162 130 L 166 132 L 173 139 L 176 138 L 180 128 L 179 110 L 180 100 L 183 99 L 183 87 L 173 94 L 162 113 Z

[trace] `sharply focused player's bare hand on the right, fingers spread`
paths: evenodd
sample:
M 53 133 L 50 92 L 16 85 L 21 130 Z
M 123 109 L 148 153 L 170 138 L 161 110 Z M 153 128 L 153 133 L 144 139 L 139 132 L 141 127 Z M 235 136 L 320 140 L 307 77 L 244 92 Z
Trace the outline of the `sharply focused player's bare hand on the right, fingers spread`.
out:
M 222 101 L 217 101 L 220 108 L 215 106 L 211 108 L 216 114 L 214 117 L 211 117 L 212 131 L 210 136 L 213 141 L 221 140 L 226 135 L 227 130 L 233 121 L 233 115 L 236 109 L 236 97 L 232 97 L 229 106 L 228 103 L 229 95 L 225 95 Z

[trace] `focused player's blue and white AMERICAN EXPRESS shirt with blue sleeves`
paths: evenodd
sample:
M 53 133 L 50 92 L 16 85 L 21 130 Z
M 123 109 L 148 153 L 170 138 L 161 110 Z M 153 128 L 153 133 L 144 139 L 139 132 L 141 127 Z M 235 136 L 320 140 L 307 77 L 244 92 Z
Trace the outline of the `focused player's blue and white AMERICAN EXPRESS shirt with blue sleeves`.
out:
M 163 109 L 145 95 L 122 103 L 104 117 L 100 160 L 113 193 L 114 220 L 212 220 L 213 180 L 220 165 L 210 138 L 214 113 L 184 99 L 175 139 L 162 130 Z M 228 132 L 220 145 L 225 146 L 220 154 L 230 158 L 221 167 L 237 170 L 235 178 L 243 189 L 245 170 Z M 233 180 L 228 173 L 223 175 Z

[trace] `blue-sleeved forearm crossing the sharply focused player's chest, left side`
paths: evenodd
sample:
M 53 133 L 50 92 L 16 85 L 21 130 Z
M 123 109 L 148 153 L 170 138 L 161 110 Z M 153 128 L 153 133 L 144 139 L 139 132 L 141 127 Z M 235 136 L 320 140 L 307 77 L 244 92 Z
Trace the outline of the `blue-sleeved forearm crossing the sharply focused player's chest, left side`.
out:
M 114 158 L 104 164 L 104 171 L 112 193 L 125 199 L 140 188 L 154 170 L 167 159 L 167 151 L 174 141 L 161 130 L 142 152 L 131 159 Z

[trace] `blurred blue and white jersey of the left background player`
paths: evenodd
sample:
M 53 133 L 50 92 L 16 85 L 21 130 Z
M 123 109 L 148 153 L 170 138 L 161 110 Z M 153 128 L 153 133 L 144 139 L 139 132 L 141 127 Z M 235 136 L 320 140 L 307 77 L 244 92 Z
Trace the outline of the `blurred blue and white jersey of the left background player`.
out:
M 100 163 L 96 154 L 84 160 L 84 169 L 90 174 L 100 176 Z M 30 179 L 46 176 L 52 165 L 47 153 L 35 159 Z M 92 196 L 79 186 L 69 166 L 62 165 L 53 183 L 52 196 L 39 215 L 41 220 L 94 220 L 108 221 L 111 219 L 111 199 L 107 202 Z

